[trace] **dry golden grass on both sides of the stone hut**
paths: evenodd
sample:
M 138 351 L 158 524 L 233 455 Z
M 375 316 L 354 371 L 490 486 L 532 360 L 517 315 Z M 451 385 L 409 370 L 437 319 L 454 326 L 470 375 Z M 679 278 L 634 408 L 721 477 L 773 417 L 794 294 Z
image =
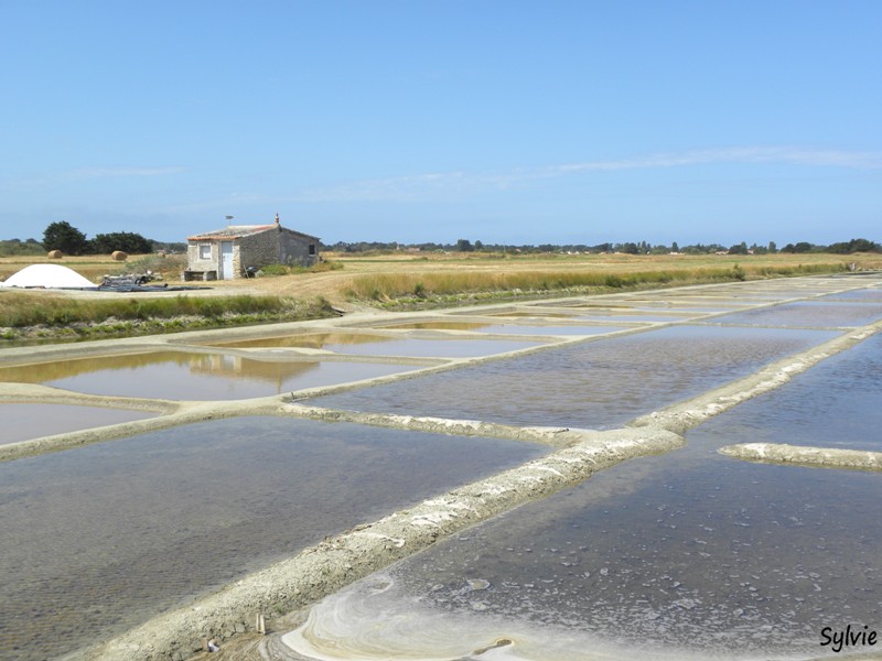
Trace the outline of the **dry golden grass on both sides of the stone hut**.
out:
M 180 257 L 180 256 L 175 256 Z M 659 283 L 707 282 L 732 279 L 735 267 L 744 277 L 768 278 L 779 274 L 833 272 L 854 263 L 861 269 L 882 268 L 880 254 L 756 254 L 756 256 L 645 256 L 645 254 L 507 254 L 496 253 L 409 253 L 381 256 L 323 253 L 342 269 L 292 273 L 275 278 L 205 283 L 202 292 L 187 294 L 271 294 L 291 297 L 324 296 L 335 304 L 353 300 L 386 300 L 424 294 L 455 294 L 495 291 L 555 291 L 566 288 L 657 285 Z M 106 273 L 141 260 L 132 256 L 120 264 L 110 256 L 0 258 L 0 279 L 31 263 L 60 263 L 94 282 Z M 160 262 L 151 259 L 151 264 Z M 180 260 L 170 258 L 165 281 L 176 284 Z M 154 270 L 159 270 L 154 267 Z

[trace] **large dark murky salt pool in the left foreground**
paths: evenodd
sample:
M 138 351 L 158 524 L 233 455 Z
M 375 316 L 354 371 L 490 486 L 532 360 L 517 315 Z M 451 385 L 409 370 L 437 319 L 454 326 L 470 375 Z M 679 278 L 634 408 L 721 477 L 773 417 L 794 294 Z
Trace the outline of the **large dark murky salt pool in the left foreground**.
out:
M 546 452 L 252 418 L 0 464 L 0 658 L 44 660 L 96 642 L 327 534 Z

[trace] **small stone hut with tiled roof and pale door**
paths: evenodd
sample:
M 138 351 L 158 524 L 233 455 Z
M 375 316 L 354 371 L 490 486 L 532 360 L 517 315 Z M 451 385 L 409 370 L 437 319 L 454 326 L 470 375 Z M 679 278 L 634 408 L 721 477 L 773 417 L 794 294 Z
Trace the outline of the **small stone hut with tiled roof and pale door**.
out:
M 187 237 L 184 280 L 245 278 L 267 264 L 311 266 L 319 238 L 279 225 L 230 225 Z

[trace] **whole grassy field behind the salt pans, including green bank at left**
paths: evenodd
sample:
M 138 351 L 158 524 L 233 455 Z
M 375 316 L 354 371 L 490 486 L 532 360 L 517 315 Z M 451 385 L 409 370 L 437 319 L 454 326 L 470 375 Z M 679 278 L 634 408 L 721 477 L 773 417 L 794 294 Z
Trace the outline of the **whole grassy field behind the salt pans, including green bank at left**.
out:
M 180 292 L 120 294 L 89 291 L 0 289 L 0 328 L 7 339 L 56 335 L 72 328 L 79 337 L 181 330 L 206 325 L 247 325 L 295 321 L 333 314 L 331 306 L 390 310 L 503 302 L 569 293 L 600 294 L 634 289 L 756 280 L 813 273 L 876 270 L 875 253 L 777 253 L 763 256 L 506 254 L 325 252 L 314 271 L 257 279 L 187 283 Z M 0 258 L 0 279 L 49 259 Z M 123 264 L 109 257 L 52 260 L 93 282 L 104 274 L 143 272 L 151 268 L 169 285 L 181 284 L 181 256 L 133 257 Z M 329 263 L 335 268 L 329 269 Z M 211 297 L 195 304 L 193 297 Z M 160 301 L 153 301 L 160 299 Z M 249 303 L 250 300 L 250 303 Z M 228 304 L 227 304 L 228 303 Z M 115 327 L 107 327 L 111 318 Z M 161 323 L 150 323 L 155 319 Z M 136 323 L 128 323 L 132 321 Z M 100 326 L 100 328 L 97 328 Z M 20 330 L 13 330 L 13 329 Z M 29 328 L 29 330 L 24 330 Z M 95 330 L 96 333 L 93 333 Z

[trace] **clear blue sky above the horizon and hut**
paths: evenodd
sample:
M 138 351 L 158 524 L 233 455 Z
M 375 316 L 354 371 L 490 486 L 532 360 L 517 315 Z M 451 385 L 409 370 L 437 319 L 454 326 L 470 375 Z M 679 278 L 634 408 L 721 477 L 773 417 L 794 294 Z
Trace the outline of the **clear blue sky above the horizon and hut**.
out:
M 0 0 L 0 239 L 882 240 L 878 0 Z

